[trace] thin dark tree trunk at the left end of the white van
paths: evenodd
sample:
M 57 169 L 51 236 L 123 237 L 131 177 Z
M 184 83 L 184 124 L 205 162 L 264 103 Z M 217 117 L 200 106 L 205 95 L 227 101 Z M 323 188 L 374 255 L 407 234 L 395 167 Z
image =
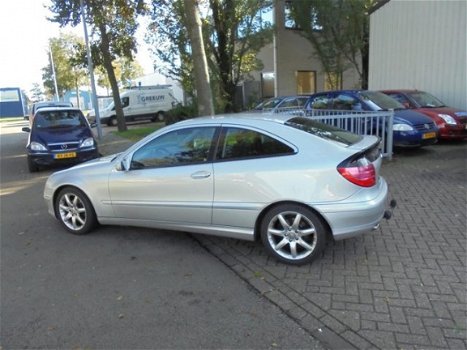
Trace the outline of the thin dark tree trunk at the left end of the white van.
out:
M 117 115 L 117 127 L 118 131 L 126 131 L 125 116 L 123 115 L 122 101 L 120 99 L 120 92 L 118 90 L 117 78 L 112 66 L 112 57 L 110 55 L 110 43 L 107 34 L 107 30 L 104 24 L 99 25 L 99 31 L 101 34 L 101 50 L 104 61 L 104 68 L 109 77 L 110 87 L 112 89 L 112 95 L 114 99 L 115 114 Z

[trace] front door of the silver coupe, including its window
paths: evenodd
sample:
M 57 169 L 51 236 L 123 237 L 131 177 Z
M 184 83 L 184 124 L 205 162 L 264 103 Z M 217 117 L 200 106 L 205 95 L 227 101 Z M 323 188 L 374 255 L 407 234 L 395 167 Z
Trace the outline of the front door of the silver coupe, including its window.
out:
M 188 127 L 159 135 L 129 154 L 130 169 L 114 171 L 109 191 L 117 217 L 210 224 L 211 154 L 216 127 Z

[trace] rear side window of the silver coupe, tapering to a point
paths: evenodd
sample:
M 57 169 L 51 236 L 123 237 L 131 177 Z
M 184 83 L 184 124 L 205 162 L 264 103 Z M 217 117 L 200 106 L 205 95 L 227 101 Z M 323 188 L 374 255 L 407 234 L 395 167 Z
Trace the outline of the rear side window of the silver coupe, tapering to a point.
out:
M 293 154 L 294 150 L 282 142 L 257 131 L 226 128 L 223 132 L 217 159 L 233 160 Z

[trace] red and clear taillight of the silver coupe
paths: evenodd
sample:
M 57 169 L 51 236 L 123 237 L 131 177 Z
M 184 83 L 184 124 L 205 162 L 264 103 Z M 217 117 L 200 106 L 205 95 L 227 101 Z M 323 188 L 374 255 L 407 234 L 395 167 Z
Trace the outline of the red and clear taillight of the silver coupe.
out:
M 366 158 L 354 161 L 344 161 L 337 167 L 337 171 L 345 179 L 361 187 L 371 187 L 376 184 L 376 170 Z

